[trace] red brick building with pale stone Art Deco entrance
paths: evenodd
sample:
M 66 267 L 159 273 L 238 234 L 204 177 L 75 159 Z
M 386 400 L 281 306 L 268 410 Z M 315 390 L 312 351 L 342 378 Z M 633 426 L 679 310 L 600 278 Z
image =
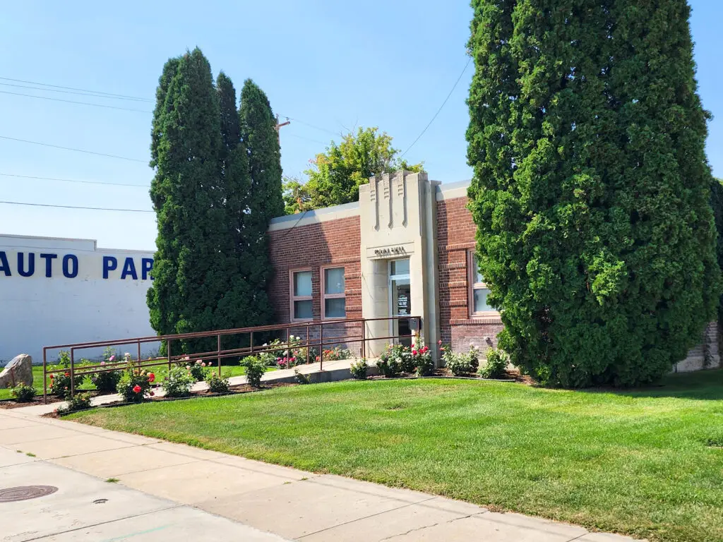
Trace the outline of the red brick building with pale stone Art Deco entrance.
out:
M 334 327 L 335 319 L 409 315 L 422 317 L 427 343 L 441 339 L 459 350 L 495 344 L 502 324 L 476 272 L 467 186 L 400 172 L 361 186 L 359 202 L 273 219 L 277 321 L 324 321 L 333 335 L 344 325 Z M 403 318 L 368 322 L 367 337 L 415 327 Z M 371 341 L 367 354 L 386 343 Z

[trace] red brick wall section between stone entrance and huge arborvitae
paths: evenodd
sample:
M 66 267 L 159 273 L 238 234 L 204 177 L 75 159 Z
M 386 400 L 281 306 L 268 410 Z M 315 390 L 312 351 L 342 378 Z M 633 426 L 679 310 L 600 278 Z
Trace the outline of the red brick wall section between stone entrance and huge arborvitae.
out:
M 469 350 L 472 343 L 483 350 L 487 339 L 497 346 L 502 331 L 500 317 L 469 317 L 469 251 L 474 249 L 476 225 L 467 209 L 467 198 L 437 202 L 437 249 L 439 251 L 440 332 L 454 350 Z

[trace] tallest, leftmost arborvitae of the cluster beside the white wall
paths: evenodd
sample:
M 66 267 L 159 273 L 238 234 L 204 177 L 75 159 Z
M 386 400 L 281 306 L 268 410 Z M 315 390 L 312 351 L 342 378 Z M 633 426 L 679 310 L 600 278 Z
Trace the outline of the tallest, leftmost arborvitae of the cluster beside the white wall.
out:
M 208 61 L 199 49 L 163 69 L 153 119 L 150 195 L 157 213 L 154 282 L 147 295 L 158 333 L 216 327 L 228 289 L 228 231 L 219 178 L 221 123 Z

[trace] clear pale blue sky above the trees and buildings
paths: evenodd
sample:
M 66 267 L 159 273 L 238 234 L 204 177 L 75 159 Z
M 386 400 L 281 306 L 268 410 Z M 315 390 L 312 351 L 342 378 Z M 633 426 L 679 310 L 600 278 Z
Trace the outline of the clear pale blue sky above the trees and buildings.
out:
M 723 177 L 723 2 L 690 0 L 703 106 L 714 115 L 708 158 Z M 379 126 L 406 150 L 448 95 L 467 56 L 466 1 L 333 0 L 7 2 L 0 20 L 0 77 L 153 98 L 169 56 L 199 46 L 214 76 L 240 88 L 251 77 L 276 113 L 286 175 L 354 126 Z M 409 150 L 442 182 L 471 176 L 464 100 L 470 64 L 426 134 Z M 8 85 L 0 79 L 0 136 L 132 158 L 121 160 L 0 139 L 0 200 L 150 210 L 147 166 L 153 103 L 90 98 Z M 309 124 L 315 126 L 309 126 Z M 7 175 L 103 181 L 104 186 Z M 0 233 L 98 239 L 99 246 L 153 249 L 153 213 L 0 204 Z

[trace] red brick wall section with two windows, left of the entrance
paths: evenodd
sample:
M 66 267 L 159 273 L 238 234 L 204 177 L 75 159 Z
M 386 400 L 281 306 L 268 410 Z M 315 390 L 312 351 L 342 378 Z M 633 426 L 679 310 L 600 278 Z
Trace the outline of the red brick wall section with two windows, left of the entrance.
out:
M 312 314 L 315 320 L 321 319 L 320 269 L 329 264 L 344 267 L 346 317 L 361 318 L 361 238 L 358 216 L 270 231 L 268 236 L 273 266 L 269 296 L 276 313 L 275 322 L 291 322 L 289 272 L 304 267 L 312 270 Z M 345 335 L 345 330 L 339 327 L 325 325 L 325 337 Z M 306 329 L 299 327 L 291 332 L 304 337 Z M 316 327 L 310 330 L 310 335 L 318 337 L 318 332 L 319 328 Z M 348 330 L 346 333 L 359 334 L 359 330 Z M 359 346 L 350 344 L 348 348 L 358 350 Z

